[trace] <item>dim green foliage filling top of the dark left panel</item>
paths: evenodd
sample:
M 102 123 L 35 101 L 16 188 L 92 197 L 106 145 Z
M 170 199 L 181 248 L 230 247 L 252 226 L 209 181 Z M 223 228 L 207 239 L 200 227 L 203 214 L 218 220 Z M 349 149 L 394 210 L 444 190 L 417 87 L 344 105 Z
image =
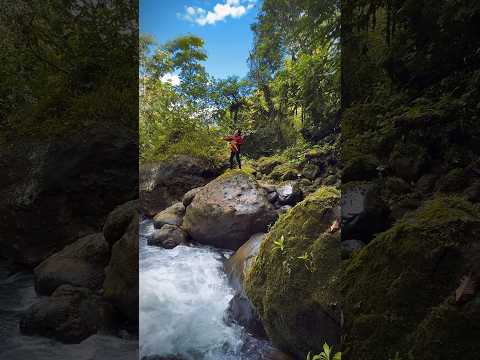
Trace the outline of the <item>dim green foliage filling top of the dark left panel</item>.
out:
M 0 141 L 95 123 L 136 129 L 137 9 L 116 0 L 0 1 Z

